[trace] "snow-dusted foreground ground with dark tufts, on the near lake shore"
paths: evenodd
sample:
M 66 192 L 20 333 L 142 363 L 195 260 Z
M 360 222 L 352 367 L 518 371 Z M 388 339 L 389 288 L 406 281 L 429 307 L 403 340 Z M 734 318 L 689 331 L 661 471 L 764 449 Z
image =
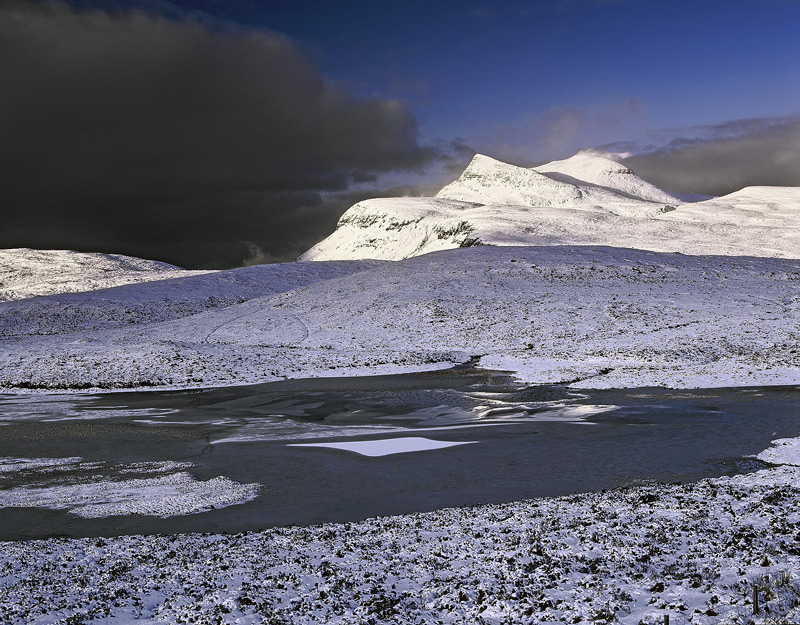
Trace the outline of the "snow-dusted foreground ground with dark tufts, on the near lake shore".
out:
M 783 441 L 762 456 L 787 464 L 358 523 L 5 543 L 0 614 L 26 624 L 796 622 L 800 459 Z

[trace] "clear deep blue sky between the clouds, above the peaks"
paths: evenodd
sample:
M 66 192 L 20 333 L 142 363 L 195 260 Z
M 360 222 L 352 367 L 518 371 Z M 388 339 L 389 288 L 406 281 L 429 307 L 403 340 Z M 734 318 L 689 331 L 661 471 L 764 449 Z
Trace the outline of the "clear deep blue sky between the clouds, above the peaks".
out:
M 407 103 L 426 141 L 491 148 L 509 132 L 558 123 L 561 112 L 585 114 L 569 151 L 584 137 L 593 147 L 800 113 L 800 2 L 176 4 L 286 34 L 349 92 Z M 518 147 L 566 155 L 556 142 Z

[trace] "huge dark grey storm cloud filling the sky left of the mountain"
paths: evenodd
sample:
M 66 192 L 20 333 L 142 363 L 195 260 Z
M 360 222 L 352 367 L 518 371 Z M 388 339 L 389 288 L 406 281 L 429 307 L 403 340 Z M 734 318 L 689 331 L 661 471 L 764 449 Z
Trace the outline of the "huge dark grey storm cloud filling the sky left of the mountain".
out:
M 401 103 L 192 17 L 5 3 L 0 76 L 0 247 L 285 259 L 330 232 L 336 192 L 437 157 Z

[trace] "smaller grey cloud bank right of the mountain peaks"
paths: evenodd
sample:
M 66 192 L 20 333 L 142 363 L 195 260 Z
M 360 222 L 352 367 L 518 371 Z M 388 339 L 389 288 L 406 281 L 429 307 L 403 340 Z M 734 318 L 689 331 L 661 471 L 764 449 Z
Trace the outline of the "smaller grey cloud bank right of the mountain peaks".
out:
M 672 191 L 725 195 L 754 185 L 800 186 L 800 116 L 735 120 L 687 129 L 662 145 L 605 149 L 633 151 L 622 162 Z

